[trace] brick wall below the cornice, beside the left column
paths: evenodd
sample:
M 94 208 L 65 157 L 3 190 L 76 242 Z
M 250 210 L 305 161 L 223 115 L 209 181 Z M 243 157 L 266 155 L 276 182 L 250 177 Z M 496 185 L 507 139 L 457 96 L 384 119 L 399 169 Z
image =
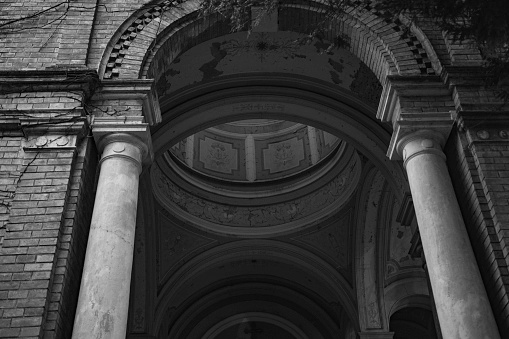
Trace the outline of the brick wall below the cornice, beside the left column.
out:
M 1 201 L 0 338 L 69 338 L 95 194 L 94 142 L 85 138 L 78 152 L 25 151 L 23 137 L 1 144 L 10 145 L 1 159 L 9 165 L 0 165 L 10 193 Z

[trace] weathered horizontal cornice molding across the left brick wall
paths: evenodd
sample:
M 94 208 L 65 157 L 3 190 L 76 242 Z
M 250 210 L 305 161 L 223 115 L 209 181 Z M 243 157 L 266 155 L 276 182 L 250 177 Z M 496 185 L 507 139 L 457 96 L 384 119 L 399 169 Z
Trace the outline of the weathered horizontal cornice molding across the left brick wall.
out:
M 84 102 L 99 85 L 94 70 L 76 66 L 69 69 L 0 71 L 0 79 L 0 92 L 21 96 L 25 100 L 5 107 L 0 105 L 2 131 L 24 137 L 25 151 L 74 149 L 86 134 L 88 119 Z M 37 107 L 37 100 L 50 97 L 59 97 L 63 101 L 58 102 L 57 99 L 57 102 L 48 102 L 47 108 L 33 108 Z

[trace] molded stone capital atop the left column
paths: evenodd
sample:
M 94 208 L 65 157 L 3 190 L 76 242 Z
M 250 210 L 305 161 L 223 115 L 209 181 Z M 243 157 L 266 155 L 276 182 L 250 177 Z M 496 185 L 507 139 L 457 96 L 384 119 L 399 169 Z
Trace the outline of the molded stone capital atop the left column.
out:
M 92 134 L 102 153 L 101 161 L 112 156 L 125 156 L 141 166 L 153 160 L 150 129 L 143 117 L 94 117 Z M 139 153 L 136 154 L 135 149 Z

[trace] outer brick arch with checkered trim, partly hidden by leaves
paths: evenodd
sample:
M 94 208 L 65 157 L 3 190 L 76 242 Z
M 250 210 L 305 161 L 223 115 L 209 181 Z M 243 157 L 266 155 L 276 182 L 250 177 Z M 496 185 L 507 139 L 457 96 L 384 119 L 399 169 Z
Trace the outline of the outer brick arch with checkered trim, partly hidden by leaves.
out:
M 177 6 L 177 8 L 175 8 Z M 174 55 L 229 31 L 218 15 L 198 18 L 194 1 L 155 1 L 134 13 L 113 35 L 99 67 L 101 77 L 144 78 L 154 56 L 167 44 Z M 325 11 L 319 2 L 285 4 L 282 10 L 298 15 L 301 22 L 281 20 L 282 29 L 308 33 L 313 20 Z M 403 21 L 404 18 L 402 18 Z M 185 37 L 185 39 L 183 39 Z M 370 4 L 358 2 L 326 33 L 331 41 L 347 40 L 351 52 L 362 60 L 382 84 L 387 75 L 434 75 L 440 61 L 425 33 L 412 25 L 410 30 L 399 20 L 386 18 Z M 184 42 L 185 41 L 185 42 Z M 175 43 L 176 42 L 176 43 Z

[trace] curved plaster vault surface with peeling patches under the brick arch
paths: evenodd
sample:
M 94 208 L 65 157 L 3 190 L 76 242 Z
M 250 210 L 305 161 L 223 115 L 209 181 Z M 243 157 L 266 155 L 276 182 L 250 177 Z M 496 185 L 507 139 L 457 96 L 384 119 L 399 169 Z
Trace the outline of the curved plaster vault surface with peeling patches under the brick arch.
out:
M 177 58 L 168 55 L 158 63 L 163 69 L 153 74 L 159 97 L 223 76 L 273 72 L 313 77 L 376 102 L 381 93 L 376 76 L 346 49 L 330 46 L 295 32 L 238 32 L 203 42 Z

